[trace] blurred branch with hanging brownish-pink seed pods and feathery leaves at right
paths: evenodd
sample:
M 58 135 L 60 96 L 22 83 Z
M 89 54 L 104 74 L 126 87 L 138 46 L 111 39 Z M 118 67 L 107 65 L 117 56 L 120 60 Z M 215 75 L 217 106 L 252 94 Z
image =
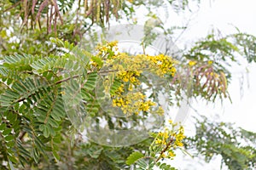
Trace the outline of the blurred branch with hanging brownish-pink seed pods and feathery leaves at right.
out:
M 232 65 L 239 65 L 239 58 L 245 57 L 249 63 L 255 59 L 255 37 L 237 33 L 226 37 L 210 34 L 201 41 L 195 42 L 195 46 L 184 54 L 183 62 L 187 62 L 189 68 L 183 68 L 183 72 L 176 75 L 177 79 L 194 77 L 187 84 L 186 93 L 193 97 L 200 96 L 209 101 L 215 101 L 216 97 L 230 98 L 227 91 L 232 78 L 230 69 Z M 241 44 L 245 45 L 241 48 Z M 183 80 L 184 81 L 184 80 Z M 186 84 L 185 84 L 186 85 Z M 193 88 L 192 88 L 193 87 Z M 192 88 L 192 90 L 191 90 Z M 231 99 L 230 99 L 231 100 Z

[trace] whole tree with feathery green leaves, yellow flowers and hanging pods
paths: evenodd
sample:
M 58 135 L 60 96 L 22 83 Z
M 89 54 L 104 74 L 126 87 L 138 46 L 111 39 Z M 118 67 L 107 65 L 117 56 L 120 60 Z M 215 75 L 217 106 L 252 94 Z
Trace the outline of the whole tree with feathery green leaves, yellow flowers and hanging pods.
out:
M 168 3 L 181 12 L 195 2 Z M 203 119 L 196 123 L 196 135 L 185 138 L 182 126 L 164 121 L 160 105 L 161 94 L 170 97 L 168 105 L 179 105 L 183 94 L 209 102 L 230 98 L 229 64 L 237 56 L 256 60 L 252 35 L 212 33 L 177 61 L 166 54 L 119 53 L 117 42 L 90 46 L 97 27 L 111 25 L 113 18 L 130 20 L 141 6 L 152 18 L 144 50 L 158 36 L 155 27 L 166 37 L 175 28 L 185 29 L 162 26 L 152 14 L 161 1 L 0 4 L 1 169 L 175 169 L 165 160 L 177 149 L 187 153 L 184 148 L 198 150 L 206 161 L 221 155 L 230 169 L 255 166 L 255 133 Z M 81 41 L 86 48 L 79 47 Z M 153 127 L 141 129 L 152 120 Z M 209 127 L 212 131 L 205 131 Z M 215 140 L 212 134 L 218 134 Z M 247 139 L 246 146 L 240 138 Z

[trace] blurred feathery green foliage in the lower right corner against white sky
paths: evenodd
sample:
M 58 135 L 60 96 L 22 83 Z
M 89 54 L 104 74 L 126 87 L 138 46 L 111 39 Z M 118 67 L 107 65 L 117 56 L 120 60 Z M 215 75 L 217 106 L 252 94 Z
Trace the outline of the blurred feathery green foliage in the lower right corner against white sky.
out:
M 187 149 L 195 156 L 201 155 L 209 162 L 214 156 L 222 156 L 222 163 L 229 169 L 253 169 L 256 165 L 256 133 L 226 122 L 210 122 L 201 116 L 196 120 L 195 136 L 187 138 Z

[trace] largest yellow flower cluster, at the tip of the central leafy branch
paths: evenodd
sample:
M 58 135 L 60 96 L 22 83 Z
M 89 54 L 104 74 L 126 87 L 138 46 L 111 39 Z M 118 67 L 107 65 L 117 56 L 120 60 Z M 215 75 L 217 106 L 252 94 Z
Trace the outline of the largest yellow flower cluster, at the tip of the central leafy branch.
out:
M 119 107 L 125 114 L 153 111 L 153 106 L 156 103 L 146 99 L 146 96 L 141 92 L 135 93 L 133 90 L 141 85 L 139 77 L 143 71 L 151 71 L 160 77 L 165 75 L 174 76 L 176 72 L 174 59 L 164 54 L 130 56 L 119 53 L 117 42 L 108 42 L 106 45 L 98 47 L 97 50 L 99 53 L 96 56 L 104 60 L 104 64 L 106 64 L 104 66 L 109 69 L 108 80 L 113 80 L 113 77 L 115 77 L 122 83 L 122 86 L 118 89 L 115 88 L 114 94 L 111 95 L 113 107 Z M 108 85 L 111 82 L 104 82 L 104 84 Z M 106 92 L 108 89 L 105 88 Z M 125 92 L 125 89 L 128 89 L 129 92 Z M 154 109 L 154 112 L 159 115 L 164 114 L 164 110 L 160 106 Z

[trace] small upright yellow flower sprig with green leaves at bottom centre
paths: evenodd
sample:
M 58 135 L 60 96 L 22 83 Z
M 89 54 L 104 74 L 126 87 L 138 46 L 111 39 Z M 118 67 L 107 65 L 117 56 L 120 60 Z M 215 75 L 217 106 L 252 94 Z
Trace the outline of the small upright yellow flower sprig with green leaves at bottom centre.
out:
M 127 158 L 126 164 L 135 164 L 137 169 L 176 169 L 163 162 L 166 159 L 173 159 L 176 155 L 174 150 L 183 150 L 184 130 L 182 126 L 177 127 L 177 123 L 169 120 L 170 126 L 165 127 L 159 133 L 152 133 L 153 143 L 149 147 L 148 153 L 143 155 L 141 152 L 133 152 Z

